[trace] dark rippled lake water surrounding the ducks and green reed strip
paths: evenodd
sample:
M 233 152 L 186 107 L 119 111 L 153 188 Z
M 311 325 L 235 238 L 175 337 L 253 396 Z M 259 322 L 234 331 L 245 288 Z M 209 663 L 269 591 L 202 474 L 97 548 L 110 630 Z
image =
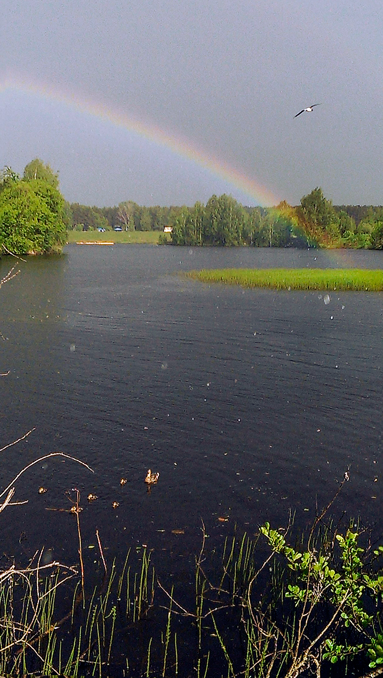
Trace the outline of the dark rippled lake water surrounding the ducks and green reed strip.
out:
M 94 474 L 60 458 L 25 473 L 28 504 L 3 513 L 5 553 L 45 545 L 76 560 L 75 519 L 46 509 L 70 508 L 78 487 L 85 546 L 98 528 L 106 552 L 148 544 L 161 570 L 158 553 L 166 567 L 196 553 L 201 519 L 211 544 L 235 525 L 283 525 L 290 508 L 307 525 L 348 467 L 336 510 L 382 538 L 383 295 L 325 304 L 174 275 L 220 266 L 383 268 L 383 253 L 73 245 L 19 262 L 0 294 L 0 447 L 35 431 L 0 453 L 1 486 L 58 450 Z

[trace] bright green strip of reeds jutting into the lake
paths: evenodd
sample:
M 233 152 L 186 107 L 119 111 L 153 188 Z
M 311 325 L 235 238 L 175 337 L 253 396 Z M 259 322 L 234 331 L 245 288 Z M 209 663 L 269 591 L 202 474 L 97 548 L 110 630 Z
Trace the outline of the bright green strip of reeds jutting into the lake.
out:
M 204 283 L 275 290 L 383 290 L 383 271 L 357 268 L 221 268 L 190 271 L 184 275 Z

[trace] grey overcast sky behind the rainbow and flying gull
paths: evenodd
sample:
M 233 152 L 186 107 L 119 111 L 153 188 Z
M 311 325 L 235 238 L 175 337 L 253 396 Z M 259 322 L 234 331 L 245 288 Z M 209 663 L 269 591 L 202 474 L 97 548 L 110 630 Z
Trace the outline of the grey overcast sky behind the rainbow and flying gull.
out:
M 3 0 L 1 24 L 0 165 L 41 157 L 70 201 L 264 192 L 47 87 L 186 139 L 278 200 L 321 186 L 334 204 L 383 204 L 382 0 Z

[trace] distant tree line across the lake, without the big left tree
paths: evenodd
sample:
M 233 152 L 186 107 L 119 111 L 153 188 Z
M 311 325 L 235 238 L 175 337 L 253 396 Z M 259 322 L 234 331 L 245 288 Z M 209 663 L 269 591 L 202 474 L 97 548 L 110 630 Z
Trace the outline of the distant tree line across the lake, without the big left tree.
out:
M 146 207 L 129 200 L 115 207 L 72 203 L 68 213 L 70 228 L 78 231 L 163 232 L 169 226 L 174 245 L 383 247 L 382 206 L 333 205 L 321 188 L 296 206 L 283 201 L 276 207 L 245 207 L 230 195 L 213 195 L 193 207 Z

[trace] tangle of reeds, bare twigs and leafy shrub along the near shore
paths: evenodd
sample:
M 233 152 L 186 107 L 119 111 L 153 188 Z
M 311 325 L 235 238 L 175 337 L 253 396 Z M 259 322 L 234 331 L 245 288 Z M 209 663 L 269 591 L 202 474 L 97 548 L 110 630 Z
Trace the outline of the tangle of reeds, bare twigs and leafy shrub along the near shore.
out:
M 337 624 L 352 620 L 352 633 L 359 628 L 367 633 L 368 629 L 373 640 L 374 633 L 380 638 L 376 620 L 363 612 L 361 600 L 355 597 L 348 603 L 348 581 L 357 578 L 354 596 L 363 586 L 363 595 L 378 593 L 383 586 L 378 567 L 383 548 L 374 551 L 373 570 L 364 570 L 363 549 L 357 547 L 357 535 L 350 532 L 357 523 L 352 521 L 345 536 L 335 538 L 339 526 L 319 521 L 308 534 L 296 538 L 294 547 L 287 542 L 291 521 L 287 531 L 272 530 L 265 523 L 260 526 L 262 555 L 257 550 L 259 536 L 227 538 L 220 567 L 216 560 L 210 563 L 203 530 L 195 580 L 188 591 L 190 610 L 186 603 L 179 604 L 176 586 L 168 593 L 159 582 L 155 586 L 151 554 L 146 548 L 129 551 L 121 572 L 115 561 L 108 565 L 107 576 L 84 601 L 77 575 L 76 585 L 71 584 L 68 614 L 63 618 L 58 615 L 58 593 L 68 572 L 53 568 L 50 576 L 37 570 L 2 573 L 0 673 L 33 675 L 35 671 L 39 675 L 106 678 L 113 674 L 117 658 L 126 678 L 174 678 L 189 675 L 191 665 L 197 678 L 208 678 L 218 675 L 217 660 L 219 675 L 228 678 L 291 678 L 298 675 L 294 671 L 300 670 L 299 666 L 306 665 L 305 652 L 311 653 L 312 662 L 324 661 L 321 653 L 331 657 L 331 662 L 333 657 L 340 662 L 342 652 L 345 656 L 357 654 L 363 646 L 350 646 L 343 627 L 343 645 L 331 644 L 331 637 L 327 643 L 325 635 L 319 635 L 317 645 L 310 645 L 310 638 L 318 633 L 320 624 L 327 633 L 323 605 L 334 605 L 334 600 L 342 610 L 342 617 L 338 619 L 336 612 L 333 618 L 335 631 Z M 337 540 L 341 550 L 336 557 Z M 270 553 L 265 556 L 267 545 Z M 307 565 L 309 561 L 311 565 Z M 321 595 L 329 591 L 333 598 L 322 603 Z M 380 652 L 379 643 L 371 645 L 376 647 L 375 656 Z M 140 653 L 142 658 L 137 660 Z M 344 664 L 342 675 L 347 675 Z

